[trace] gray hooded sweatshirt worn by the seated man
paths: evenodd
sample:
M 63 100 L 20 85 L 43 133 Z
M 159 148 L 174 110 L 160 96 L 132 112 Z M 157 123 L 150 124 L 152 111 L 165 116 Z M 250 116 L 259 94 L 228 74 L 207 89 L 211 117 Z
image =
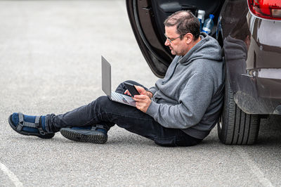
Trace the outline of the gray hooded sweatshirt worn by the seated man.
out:
M 223 62 L 216 39 L 201 33 L 201 41 L 176 56 L 163 79 L 157 80 L 146 112 L 163 127 L 182 129 L 203 139 L 218 122 L 223 103 Z

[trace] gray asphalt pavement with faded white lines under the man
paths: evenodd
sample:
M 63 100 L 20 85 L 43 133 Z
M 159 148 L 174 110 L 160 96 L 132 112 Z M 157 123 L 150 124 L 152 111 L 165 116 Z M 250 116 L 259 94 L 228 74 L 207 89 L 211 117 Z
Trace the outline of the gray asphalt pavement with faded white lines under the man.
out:
M 112 86 L 157 77 L 138 49 L 124 1 L 0 1 L 0 186 L 281 186 L 281 117 L 262 120 L 255 146 L 163 148 L 114 127 L 105 145 L 22 136 L 12 112 L 63 113 Z

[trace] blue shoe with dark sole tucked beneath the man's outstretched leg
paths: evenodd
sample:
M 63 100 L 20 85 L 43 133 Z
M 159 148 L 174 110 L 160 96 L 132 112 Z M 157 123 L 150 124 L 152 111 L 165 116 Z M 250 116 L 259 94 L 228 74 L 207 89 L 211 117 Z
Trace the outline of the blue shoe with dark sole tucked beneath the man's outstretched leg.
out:
M 107 130 L 100 125 L 91 129 L 62 128 L 60 134 L 72 141 L 89 143 L 105 143 L 107 141 Z

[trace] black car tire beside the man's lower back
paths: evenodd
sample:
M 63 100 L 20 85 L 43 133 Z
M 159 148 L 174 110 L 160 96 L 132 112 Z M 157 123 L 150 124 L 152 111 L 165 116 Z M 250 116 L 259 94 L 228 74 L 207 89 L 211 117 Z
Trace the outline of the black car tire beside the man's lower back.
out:
M 233 91 L 228 79 L 225 86 L 223 113 L 218 122 L 218 138 L 222 143 L 229 145 L 256 143 L 259 134 L 259 115 L 243 112 L 233 99 Z

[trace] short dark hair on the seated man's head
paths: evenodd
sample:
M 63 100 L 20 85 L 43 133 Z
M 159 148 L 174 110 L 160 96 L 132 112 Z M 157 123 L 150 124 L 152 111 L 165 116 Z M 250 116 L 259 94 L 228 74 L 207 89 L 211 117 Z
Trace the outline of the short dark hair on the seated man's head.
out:
M 183 35 L 190 32 L 194 39 L 200 37 L 200 22 L 190 11 L 178 11 L 170 15 L 164 21 L 166 27 L 173 27 L 176 25 L 176 32 Z

